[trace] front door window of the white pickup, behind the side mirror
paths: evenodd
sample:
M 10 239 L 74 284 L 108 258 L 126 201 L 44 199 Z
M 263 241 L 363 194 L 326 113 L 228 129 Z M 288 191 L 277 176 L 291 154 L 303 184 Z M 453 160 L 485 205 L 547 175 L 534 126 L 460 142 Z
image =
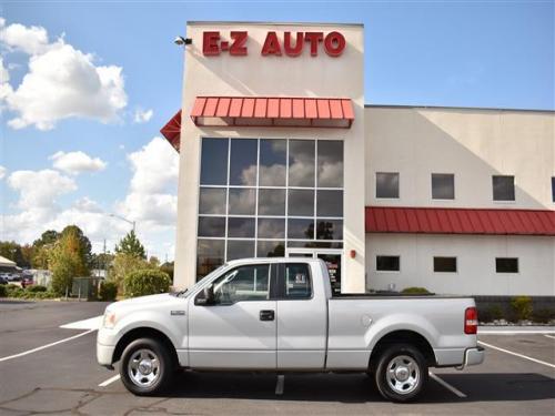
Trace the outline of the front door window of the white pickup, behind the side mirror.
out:
M 215 303 L 231 305 L 241 301 L 266 301 L 270 296 L 270 265 L 233 268 L 214 283 Z

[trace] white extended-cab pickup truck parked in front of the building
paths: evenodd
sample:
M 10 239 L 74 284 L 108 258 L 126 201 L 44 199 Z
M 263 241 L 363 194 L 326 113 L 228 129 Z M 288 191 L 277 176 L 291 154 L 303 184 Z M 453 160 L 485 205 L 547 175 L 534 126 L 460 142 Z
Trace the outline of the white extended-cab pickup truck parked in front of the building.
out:
M 150 395 L 178 368 L 367 372 L 382 396 L 416 398 L 428 367 L 481 364 L 474 300 L 332 295 L 312 258 L 245 258 L 185 292 L 118 302 L 98 333 L 98 362 L 121 361 L 125 387 Z

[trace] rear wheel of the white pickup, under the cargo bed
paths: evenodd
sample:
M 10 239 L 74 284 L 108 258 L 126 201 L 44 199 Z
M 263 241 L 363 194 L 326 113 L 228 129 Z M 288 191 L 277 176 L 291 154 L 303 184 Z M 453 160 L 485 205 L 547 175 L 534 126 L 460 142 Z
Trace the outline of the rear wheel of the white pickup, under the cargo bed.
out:
M 380 394 L 396 403 L 412 402 L 427 384 L 427 363 L 410 344 L 394 344 L 382 352 L 375 367 Z

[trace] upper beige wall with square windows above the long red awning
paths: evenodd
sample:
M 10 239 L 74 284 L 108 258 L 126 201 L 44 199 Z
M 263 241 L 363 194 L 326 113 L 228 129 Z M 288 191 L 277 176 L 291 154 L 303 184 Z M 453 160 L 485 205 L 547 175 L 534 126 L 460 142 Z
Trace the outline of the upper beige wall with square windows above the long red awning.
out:
M 366 204 L 555 209 L 555 113 L 369 106 Z M 375 172 L 400 172 L 400 199 L 375 197 Z M 455 200 L 433 201 L 432 173 L 455 174 Z M 515 202 L 494 202 L 492 175 L 515 176 Z

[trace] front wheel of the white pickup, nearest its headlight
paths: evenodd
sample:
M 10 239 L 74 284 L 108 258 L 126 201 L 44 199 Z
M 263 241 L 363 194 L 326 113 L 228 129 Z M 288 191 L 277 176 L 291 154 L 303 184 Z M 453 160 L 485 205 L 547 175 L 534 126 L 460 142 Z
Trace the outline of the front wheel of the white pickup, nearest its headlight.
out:
M 123 351 L 120 376 L 129 392 L 137 396 L 151 396 L 168 387 L 175 368 L 176 364 L 163 343 L 139 338 Z

